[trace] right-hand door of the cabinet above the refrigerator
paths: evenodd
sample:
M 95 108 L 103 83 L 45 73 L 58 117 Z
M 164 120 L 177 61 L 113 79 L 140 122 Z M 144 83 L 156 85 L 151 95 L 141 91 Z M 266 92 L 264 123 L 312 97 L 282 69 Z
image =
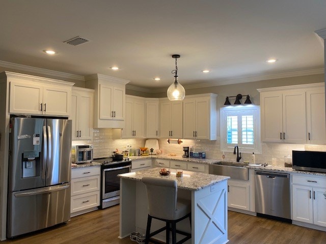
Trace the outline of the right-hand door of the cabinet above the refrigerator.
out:
M 43 103 L 43 114 L 69 116 L 71 88 L 44 87 Z

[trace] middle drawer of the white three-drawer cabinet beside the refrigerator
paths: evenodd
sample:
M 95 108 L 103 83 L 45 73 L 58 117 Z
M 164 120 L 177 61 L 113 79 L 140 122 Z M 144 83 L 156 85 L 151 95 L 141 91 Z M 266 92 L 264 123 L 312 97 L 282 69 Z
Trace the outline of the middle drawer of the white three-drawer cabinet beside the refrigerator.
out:
M 79 177 L 71 180 L 71 196 L 100 190 L 100 176 Z

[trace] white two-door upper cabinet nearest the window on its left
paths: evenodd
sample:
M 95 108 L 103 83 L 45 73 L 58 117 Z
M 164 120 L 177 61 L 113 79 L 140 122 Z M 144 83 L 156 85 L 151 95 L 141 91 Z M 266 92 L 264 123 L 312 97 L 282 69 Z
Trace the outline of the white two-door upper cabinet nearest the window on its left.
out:
M 216 140 L 216 97 L 204 94 L 183 100 L 183 138 Z

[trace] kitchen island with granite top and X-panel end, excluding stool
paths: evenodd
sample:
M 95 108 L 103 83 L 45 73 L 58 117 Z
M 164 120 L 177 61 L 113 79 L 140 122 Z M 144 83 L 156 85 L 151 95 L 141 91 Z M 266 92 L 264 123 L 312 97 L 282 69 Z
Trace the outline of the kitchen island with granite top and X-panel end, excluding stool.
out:
M 141 181 L 144 176 L 176 179 L 178 195 L 192 201 L 192 228 L 187 219 L 177 228 L 192 232 L 192 238 L 185 243 L 226 243 L 228 242 L 227 180 L 228 176 L 183 171 L 183 177 L 159 175 L 160 168 L 152 168 L 118 175 L 120 177 L 120 236 L 131 232 L 145 233 L 147 223 L 146 188 Z M 152 230 L 164 226 L 153 220 Z M 165 240 L 165 233 L 155 236 Z M 178 237 L 177 237 L 178 238 Z

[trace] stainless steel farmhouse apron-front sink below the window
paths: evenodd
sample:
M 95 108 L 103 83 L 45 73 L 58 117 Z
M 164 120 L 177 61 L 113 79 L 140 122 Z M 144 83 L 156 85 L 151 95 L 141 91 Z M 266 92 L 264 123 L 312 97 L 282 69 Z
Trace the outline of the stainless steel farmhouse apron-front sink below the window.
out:
M 208 172 L 210 174 L 230 176 L 231 179 L 248 180 L 248 168 L 245 166 L 245 163 L 233 161 L 216 162 L 209 165 Z

